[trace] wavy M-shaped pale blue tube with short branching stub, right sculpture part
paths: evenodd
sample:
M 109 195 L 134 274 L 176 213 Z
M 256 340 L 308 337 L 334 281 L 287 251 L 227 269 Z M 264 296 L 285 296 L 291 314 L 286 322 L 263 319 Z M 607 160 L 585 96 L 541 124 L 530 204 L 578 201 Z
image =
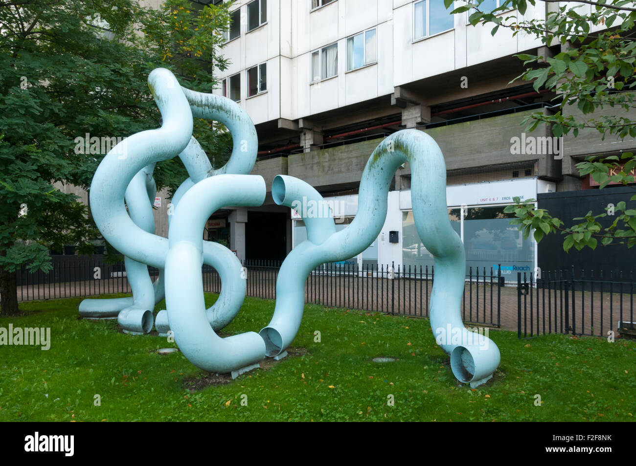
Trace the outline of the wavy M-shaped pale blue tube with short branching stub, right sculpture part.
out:
M 261 330 L 266 354 L 281 353 L 294 339 L 305 306 L 305 280 L 316 266 L 356 256 L 377 238 L 387 214 L 387 194 L 397 167 L 411 165 L 411 201 L 415 226 L 422 243 L 435 257 L 431 294 L 431 328 L 436 337 L 448 332 L 441 348 L 451 355 L 455 377 L 475 385 L 492 376 L 499 366 L 499 348 L 485 336 L 467 331 L 460 316 L 466 257 L 446 210 L 446 167 L 436 142 L 424 132 L 401 130 L 383 140 L 364 168 L 358 210 L 352 223 L 335 232 L 333 219 L 304 218 L 307 240 L 295 247 L 283 262 L 276 282 L 272 320 Z M 279 175 L 272 197 L 279 205 L 293 207 L 306 196 L 322 201 L 307 183 Z M 319 209 L 321 210 L 321 209 Z M 450 341 L 452 334 L 457 343 Z

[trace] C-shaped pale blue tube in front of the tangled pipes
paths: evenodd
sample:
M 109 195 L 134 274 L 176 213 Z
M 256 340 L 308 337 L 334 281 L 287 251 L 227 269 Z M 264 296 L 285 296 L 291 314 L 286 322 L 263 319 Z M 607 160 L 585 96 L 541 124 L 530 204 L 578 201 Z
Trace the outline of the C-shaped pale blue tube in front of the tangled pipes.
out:
M 170 224 L 170 250 L 166 257 L 166 308 L 170 329 L 181 352 L 195 366 L 209 372 L 230 372 L 265 357 L 265 343 L 257 333 L 245 332 L 220 338 L 205 314 L 201 264 L 204 259 L 201 232 L 215 210 L 224 205 L 261 205 L 265 181 L 255 175 L 218 175 L 188 189 Z M 221 270 L 219 270 L 221 273 Z M 238 277 L 223 277 L 228 293 L 236 299 L 244 289 L 232 287 Z

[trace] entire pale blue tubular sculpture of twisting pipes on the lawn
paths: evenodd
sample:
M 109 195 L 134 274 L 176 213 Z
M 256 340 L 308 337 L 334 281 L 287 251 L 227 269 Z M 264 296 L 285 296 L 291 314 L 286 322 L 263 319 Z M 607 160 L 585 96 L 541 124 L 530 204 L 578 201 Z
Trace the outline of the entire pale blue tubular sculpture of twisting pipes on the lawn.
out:
M 316 266 L 356 256 L 377 238 L 387 214 L 387 194 L 397 167 L 411 165 L 411 200 L 418 235 L 436 260 L 431 294 L 431 327 L 438 343 L 450 354 L 453 374 L 476 386 L 492 376 L 500 360 L 499 349 L 487 337 L 467 331 L 460 317 L 466 257 L 446 210 L 446 168 L 439 147 L 417 130 L 399 131 L 381 142 L 371 154 L 361 179 L 358 212 L 352 223 L 337 231 L 330 212 L 303 220 L 307 240 L 287 256 L 277 279 L 277 301 L 272 320 L 259 332 L 219 338 L 239 311 L 245 297 L 245 276 L 239 260 L 227 248 L 202 239 L 205 222 L 221 207 L 261 205 L 265 200 L 262 177 L 248 175 L 256 160 L 256 130 L 235 102 L 181 88 L 165 69 L 156 69 L 149 86 L 162 113 L 162 127 L 130 136 L 128 156 L 108 153 L 100 163 L 90 191 L 97 227 L 115 249 L 127 256 L 132 277 L 141 290 L 121 307 L 118 319 L 129 331 L 148 331 L 148 313 L 161 294 L 165 280 L 167 310 L 159 313 L 160 332 L 171 329 L 184 355 L 196 366 L 225 373 L 253 367 L 265 355 L 280 355 L 293 341 L 305 305 L 305 281 Z M 192 135 L 193 116 L 221 121 L 232 132 L 233 152 L 225 167 L 213 170 Z M 150 231 L 148 199 L 154 195 L 154 164 L 175 156 L 183 160 L 190 178 L 177 189 L 169 218 L 169 238 Z M 145 181 L 144 181 L 145 180 Z M 133 182 L 134 181 L 134 182 Z M 144 191 L 145 189 L 145 191 Z M 272 184 L 279 205 L 322 202 L 306 182 L 279 175 Z M 144 205 L 133 200 L 143 199 Z M 130 215 L 125 208 L 128 202 Z M 322 205 L 326 207 L 326 203 Z M 313 212 L 310 210 L 310 212 Z M 307 212 L 303 212 L 307 214 Z M 151 228 L 152 227 L 152 228 Z M 219 299 L 205 309 L 202 264 L 210 264 L 222 280 Z M 160 271 L 153 285 L 147 265 Z M 148 279 L 146 279 L 148 278 Z M 150 317 L 151 325 L 151 317 Z M 459 337 L 458 337 L 459 336 Z

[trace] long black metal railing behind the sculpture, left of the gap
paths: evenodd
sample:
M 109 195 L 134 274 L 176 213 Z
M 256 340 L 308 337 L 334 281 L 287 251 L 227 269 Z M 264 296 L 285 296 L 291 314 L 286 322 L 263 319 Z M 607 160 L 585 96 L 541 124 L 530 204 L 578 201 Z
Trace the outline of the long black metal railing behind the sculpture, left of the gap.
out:
M 129 293 L 123 257 L 107 264 L 102 258 L 60 256 L 52 270 L 17 271 L 18 300 L 71 298 Z M 66 260 L 64 260 L 66 259 Z M 275 299 L 281 261 L 242 261 L 247 296 Z M 156 268 L 149 268 L 158 277 Z M 363 264 L 342 261 L 315 268 L 305 283 L 305 302 L 324 306 L 429 317 L 434 267 Z M 212 266 L 202 267 L 204 290 L 221 292 L 221 277 Z M 462 301 L 464 322 L 501 326 L 502 281 L 499 271 L 469 268 Z

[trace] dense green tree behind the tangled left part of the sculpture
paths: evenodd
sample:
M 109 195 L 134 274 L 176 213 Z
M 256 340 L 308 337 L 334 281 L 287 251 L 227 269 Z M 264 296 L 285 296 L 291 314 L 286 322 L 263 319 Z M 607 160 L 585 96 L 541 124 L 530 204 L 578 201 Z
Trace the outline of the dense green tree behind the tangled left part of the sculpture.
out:
M 107 153 L 78 144 L 158 126 L 146 79 L 167 67 L 185 85 L 211 92 L 228 29 L 228 4 L 160 10 L 135 0 L 0 0 L 0 312 L 18 312 L 15 271 L 51 269 L 49 250 L 98 238 L 86 205 L 57 189 L 88 189 Z M 231 144 L 218 124 L 195 121 L 195 137 L 221 162 Z M 78 139 L 79 138 L 79 139 Z M 114 139 L 113 139 L 114 138 Z M 114 142 L 113 142 L 114 145 Z M 101 144 L 103 146 L 103 144 Z M 88 151 L 83 150 L 88 147 Z M 95 150 L 93 150 L 93 148 Z M 177 160 L 158 164 L 158 188 L 187 177 Z

